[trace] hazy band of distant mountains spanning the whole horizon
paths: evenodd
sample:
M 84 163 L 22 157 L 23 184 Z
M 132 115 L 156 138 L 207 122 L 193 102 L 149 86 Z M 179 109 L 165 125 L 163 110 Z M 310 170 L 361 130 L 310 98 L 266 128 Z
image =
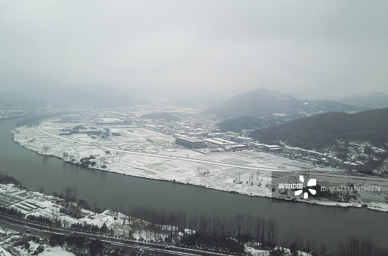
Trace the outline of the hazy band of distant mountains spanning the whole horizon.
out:
M 209 106 L 210 112 L 220 118 L 242 116 L 266 117 L 283 116 L 284 120 L 306 117 L 322 112 L 359 112 L 367 109 L 388 107 L 388 95 L 377 92 L 351 94 L 334 100 L 298 99 L 269 89 L 258 89 L 232 97 L 225 102 L 221 94 L 200 94 L 178 99 L 158 98 L 141 90 L 124 92 L 104 86 L 44 88 L 31 87 L 0 89 L 2 106 L 46 106 L 70 107 L 98 106 L 121 107 L 131 104 L 172 103 L 182 106 Z

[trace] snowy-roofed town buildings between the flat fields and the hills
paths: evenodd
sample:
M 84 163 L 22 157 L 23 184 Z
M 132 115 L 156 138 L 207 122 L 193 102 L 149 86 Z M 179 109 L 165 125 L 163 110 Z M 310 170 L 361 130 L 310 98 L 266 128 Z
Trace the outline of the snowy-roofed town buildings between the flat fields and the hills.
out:
M 214 115 L 199 111 L 170 112 L 175 120 L 144 118 L 142 114 L 153 111 L 150 106 L 137 106 L 132 109 L 83 109 L 82 118 L 89 120 L 100 128 L 106 125 L 137 125 L 147 129 L 159 131 L 175 137 L 175 143 L 184 147 L 200 149 L 210 148 L 214 151 L 235 151 L 247 147 L 256 148 L 287 157 L 298 158 L 319 165 L 357 170 L 370 159 L 370 155 L 363 154 L 363 148 L 367 144 L 351 143 L 346 147 L 346 158 L 339 157 L 339 151 L 335 149 L 317 152 L 286 145 L 270 145 L 254 142 L 252 138 L 243 137 L 239 133 L 231 131 L 220 132 L 216 127 L 217 119 Z M 78 120 L 80 115 L 70 114 L 61 117 L 62 120 Z M 96 134 L 92 134 L 96 135 Z M 103 136 L 103 134 L 102 134 Z M 378 148 L 373 148 L 377 152 Z M 383 150 L 384 151 L 384 150 Z M 362 160 L 364 159 L 364 160 Z

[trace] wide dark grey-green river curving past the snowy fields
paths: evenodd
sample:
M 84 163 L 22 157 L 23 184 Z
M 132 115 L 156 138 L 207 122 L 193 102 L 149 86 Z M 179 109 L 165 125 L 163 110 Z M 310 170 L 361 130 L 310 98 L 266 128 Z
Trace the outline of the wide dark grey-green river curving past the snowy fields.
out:
M 17 118 L 0 121 L 0 172 L 14 176 L 27 188 L 44 187 L 44 193 L 61 192 L 66 185 L 77 186 L 79 198 L 98 208 L 118 208 L 123 213 L 132 206 L 183 209 L 197 216 L 234 218 L 238 213 L 273 218 L 278 242 L 289 241 L 291 231 L 324 242 L 335 251 L 338 241 L 351 236 L 371 238 L 378 246 L 388 244 L 388 213 L 364 208 L 340 208 L 305 203 L 273 202 L 268 198 L 231 194 L 196 186 L 123 176 L 81 168 L 54 157 L 43 156 L 14 143 L 10 131 Z

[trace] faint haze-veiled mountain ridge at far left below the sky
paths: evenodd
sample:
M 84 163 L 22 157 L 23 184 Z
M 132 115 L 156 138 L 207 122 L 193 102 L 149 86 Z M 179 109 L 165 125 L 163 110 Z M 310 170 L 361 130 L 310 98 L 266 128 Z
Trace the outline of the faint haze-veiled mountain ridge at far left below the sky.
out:
M 0 93 L 0 105 L 40 107 L 97 106 L 121 107 L 144 103 L 144 99 L 113 88 L 15 88 Z

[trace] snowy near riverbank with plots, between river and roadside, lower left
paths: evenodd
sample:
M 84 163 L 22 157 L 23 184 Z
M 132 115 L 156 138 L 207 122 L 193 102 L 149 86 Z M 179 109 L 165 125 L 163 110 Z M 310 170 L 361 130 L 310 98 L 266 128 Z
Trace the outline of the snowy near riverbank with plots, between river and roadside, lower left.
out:
M 118 212 L 116 209 L 108 209 L 103 212 L 96 213 L 91 210 L 81 208 L 77 203 L 65 203 L 63 198 L 48 196 L 40 192 L 32 192 L 14 184 L 0 184 L 0 196 L 2 198 L 1 204 L 9 202 L 9 205 L 5 207 L 7 209 L 13 209 L 13 211 L 10 210 L 12 214 L 23 216 L 31 223 L 45 223 L 46 225 L 51 225 L 51 223 L 48 223 L 49 220 L 56 226 L 69 229 L 69 232 L 76 229 L 81 231 L 82 229 L 83 232 L 96 233 L 103 236 L 128 238 L 130 240 L 138 240 L 148 243 L 160 243 L 168 246 L 175 245 L 184 247 L 183 244 L 178 243 L 184 234 L 182 231 L 178 231 L 179 229 L 177 226 L 171 224 L 150 223 L 142 219 L 126 216 L 121 212 Z M 60 205 L 58 202 L 62 202 L 62 204 Z M 65 205 L 67 205 L 66 208 Z M 70 216 L 69 212 L 76 212 L 78 217 Z M 156 225 L 158 225 L 158 228 L 155 228 Z M 194 230 L 187 228 L 184 230 L 186 235 L 195 233 Z M 6 234 L 7 232 L 9 233 L 9 231 L 4 230 L 2 234 Z M 177 233 L 175 241 L 166 241 L 168 240 L 169 235 L 173 233 Z M 15 235 L 17 239 L 22 237 L 21 234 Z M 10 237 L 12 237 L 12 234 L 6 239 L 9 239 Z M 160 239 L 156 240 L 156 238 Z M 45 240 L 45 242 L 47 242 L 47 240 Z M 5 240 L 1 243 L 7 245 L 13 244 L 12 240 Z M 252 244 L 255 246 L 254 243 Z M 27 252 L 23 251 L 23 245 L 24 244 L 21 243 L 18 244 L 17 246 L 21 247 L 17 249 L 20 253 L 22 253 L 22 255 L 29 255 L 25 254 Z M 35 244 L 32 243 L 31 245 Z M 146 243 L 144 245 L 147 246 Z M 50 248 L 51 247 L 45 245 L 45 249 L 47 249 L 48 252 L 51 251 Z M 209 250 L 214 252 L 214 249 L 211 248 L 193 246 L 192 249 Z M 246 250 L 246 252 L 250 252 L 252 255 L 269 255 L 268 250 L 255 249 L 247 244 L 244 245 L 244 250 Z M 61 249 L 58 247 L 56 250 L 58 255 L 60 255 L 60 251 Z

